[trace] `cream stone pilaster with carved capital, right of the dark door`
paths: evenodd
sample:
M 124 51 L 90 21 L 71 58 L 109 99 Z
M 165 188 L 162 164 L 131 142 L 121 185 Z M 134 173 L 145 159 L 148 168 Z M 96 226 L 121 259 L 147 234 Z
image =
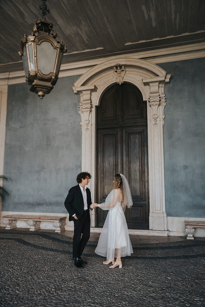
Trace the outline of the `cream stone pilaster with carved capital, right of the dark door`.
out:
M 167 215 L 164 195 L 164 148 L 163 125 L 164 107 L 166 105 L 164 84 L 169 77 L 157 77 L 143 80 L 149 85 L 147 100 L 148 112 L 148 155 L 149 155 L 149 187 L 150 215 L 149 228 L 167 230 Z

